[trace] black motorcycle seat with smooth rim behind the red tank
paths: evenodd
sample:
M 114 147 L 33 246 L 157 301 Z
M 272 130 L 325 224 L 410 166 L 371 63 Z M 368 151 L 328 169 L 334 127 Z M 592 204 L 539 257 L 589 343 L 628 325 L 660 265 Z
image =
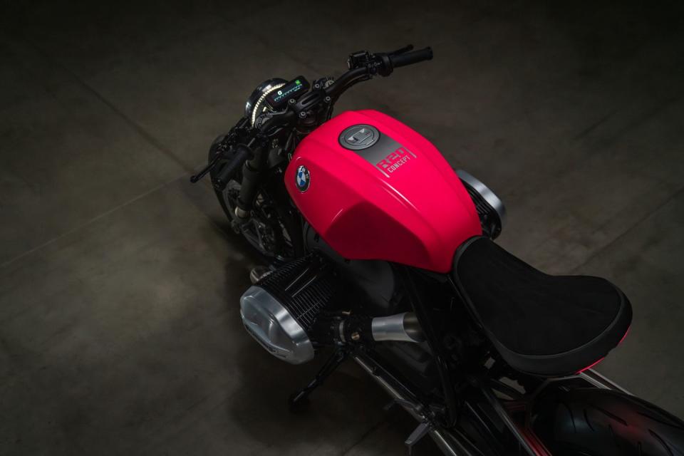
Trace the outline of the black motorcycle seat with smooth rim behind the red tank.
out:
M 606 279 L 549 276 L 485 237 L 455 255 L 454 280 L 510 366 L 535 375 L 576 373 L 626 334 L 631 304 Z

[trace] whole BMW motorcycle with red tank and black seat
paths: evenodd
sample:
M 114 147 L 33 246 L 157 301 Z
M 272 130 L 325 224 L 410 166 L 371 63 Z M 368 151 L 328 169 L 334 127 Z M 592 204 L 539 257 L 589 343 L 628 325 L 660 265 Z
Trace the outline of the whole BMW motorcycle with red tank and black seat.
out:
M 232 229 L 267 266 L 240 299 L 273 356 L 332 350 L 293 410 L 356 361 L 445 455 L 684 454 L 684 423 L 592 369 L 628 333 L 605 279 L 550 276 L 494 242 L 497 195 L 399 120 L 332 116 L 348 88 L 432 59 L 359 51 L 340 77 L 272 78 L 209 149 Z

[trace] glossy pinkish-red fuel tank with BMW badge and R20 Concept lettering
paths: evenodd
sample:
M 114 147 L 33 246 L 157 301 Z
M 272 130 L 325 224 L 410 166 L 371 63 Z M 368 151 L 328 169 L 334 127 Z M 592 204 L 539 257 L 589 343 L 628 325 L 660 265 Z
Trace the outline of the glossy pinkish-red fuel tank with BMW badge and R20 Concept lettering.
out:
M 346 259 L 447 272 L 457 247 L 482 234 L 472 199 L 437 148 L 375 110 L 341 113 L 307 136 L 285 185 Z

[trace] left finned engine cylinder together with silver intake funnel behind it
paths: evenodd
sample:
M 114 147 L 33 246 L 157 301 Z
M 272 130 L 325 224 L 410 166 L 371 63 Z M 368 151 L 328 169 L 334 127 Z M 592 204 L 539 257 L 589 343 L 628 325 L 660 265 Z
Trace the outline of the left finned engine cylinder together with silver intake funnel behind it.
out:
M 420 343 L 415 315 L 350 316 L 338 302 L 339 279 L 333 266 L 309 255 L 264 275 L 240 299 L 247 332 L 269 353 L 291 364 L 314 358 L 314 349 L 360 341 Z

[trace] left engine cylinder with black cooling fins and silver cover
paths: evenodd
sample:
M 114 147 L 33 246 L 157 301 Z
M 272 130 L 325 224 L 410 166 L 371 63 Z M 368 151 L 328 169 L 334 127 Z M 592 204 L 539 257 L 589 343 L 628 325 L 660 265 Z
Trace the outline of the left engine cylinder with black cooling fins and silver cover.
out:
M 264 276 L 240 299 L 247 332 L 277 358 L 292 364 L 310 361 L 311 330 L 335 293 L 331 273 L 327 262 L 310 255 Z

